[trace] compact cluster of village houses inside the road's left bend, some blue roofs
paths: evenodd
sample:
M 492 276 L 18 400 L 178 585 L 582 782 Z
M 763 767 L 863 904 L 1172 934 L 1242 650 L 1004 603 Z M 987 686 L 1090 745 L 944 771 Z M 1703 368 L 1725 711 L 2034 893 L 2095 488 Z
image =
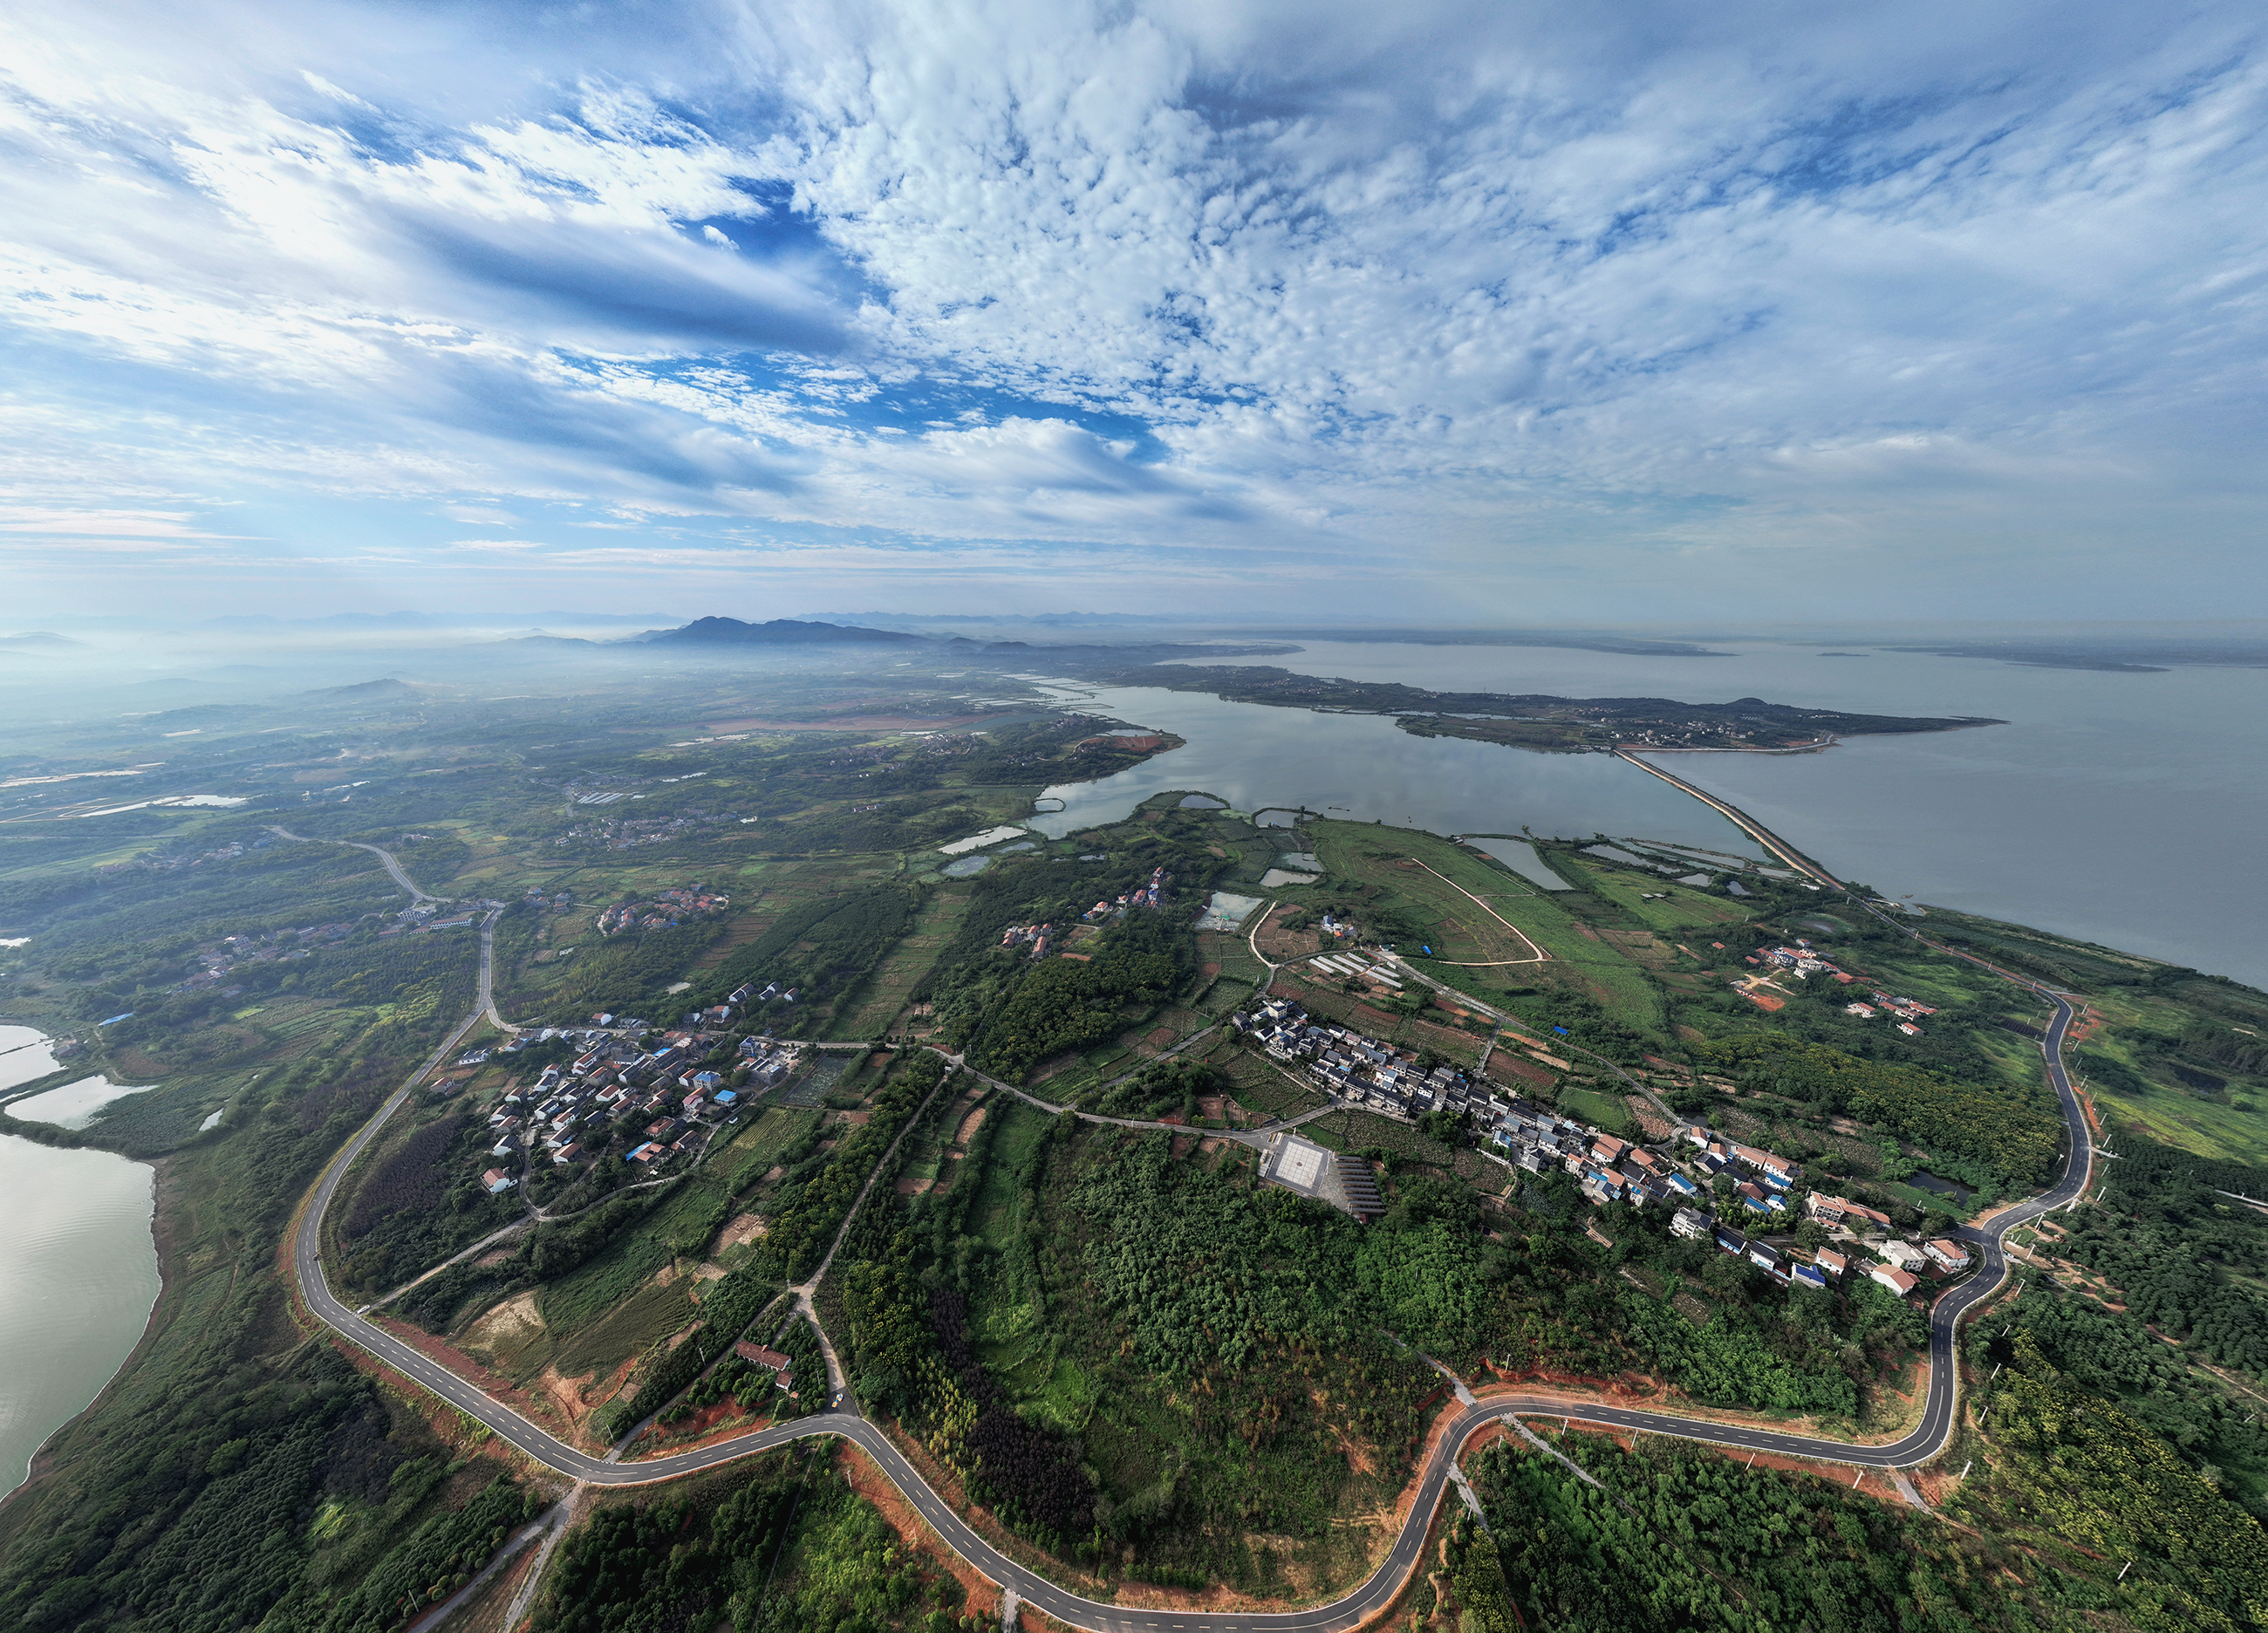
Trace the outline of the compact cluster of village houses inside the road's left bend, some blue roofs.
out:
M 492 1157 L 533 1161 L 542 1150 L 553 1164 L 572 1164 L 590 1154 L 599 1134 L 626 1125 L 640 1139 L 624 1161 L 655 1164 L 699 1150 L 739 1102 L 723 1073 L 696 1064 L 714 1048 L 712 1034 L 667 1032 L 651 1048 L 612 1032 L 587 1032 L 581 1041 L 587 1048 L 572 1064 L 547 1066 L 533 1084 L 506 1091 L 494 1105 L 488 1116 L 497 1134 Z M 767 1086 L 794 1066 L 794 1052 L 771 1039 L 744 1039 L 742 1057 L 751 1080 Z M 503 1168 L 481 1179 L 492 1193 L 513 1186 Z

